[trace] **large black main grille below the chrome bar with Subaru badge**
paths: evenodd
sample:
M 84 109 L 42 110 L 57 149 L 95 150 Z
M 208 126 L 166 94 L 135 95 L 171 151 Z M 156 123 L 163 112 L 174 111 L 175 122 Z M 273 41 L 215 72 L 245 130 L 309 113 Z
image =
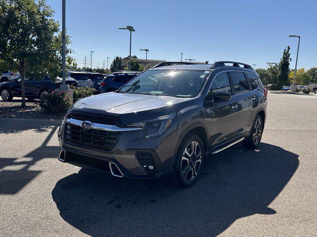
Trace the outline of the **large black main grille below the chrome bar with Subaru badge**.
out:
M 103 150 L 111 153 L 120 136 L 120 132 L 86 130 L 81 126 L 67 124 L 65 141 L 83 147 Z

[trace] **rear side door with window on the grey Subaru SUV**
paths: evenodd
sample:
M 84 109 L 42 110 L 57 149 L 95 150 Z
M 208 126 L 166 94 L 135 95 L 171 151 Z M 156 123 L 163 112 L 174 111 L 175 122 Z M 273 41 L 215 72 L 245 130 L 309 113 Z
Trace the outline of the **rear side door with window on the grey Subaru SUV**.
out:
M 243 72 L 229 72 L 232 85 L 234 87 L 234 94 L 237 100 L 238 119 L 236 130 L 237 133 L 244 133 L 249 131 L 252 126 L 252 104 L 254 94 L 250 91 L 249 82 Z

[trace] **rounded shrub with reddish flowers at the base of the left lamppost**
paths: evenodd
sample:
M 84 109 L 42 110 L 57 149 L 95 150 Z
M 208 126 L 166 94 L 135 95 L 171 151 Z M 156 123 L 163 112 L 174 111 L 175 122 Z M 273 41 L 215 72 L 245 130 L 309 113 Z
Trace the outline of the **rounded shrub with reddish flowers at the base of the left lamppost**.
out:
M 42 95 L 39 106 L 48 114 L 59 114 L 67 112 L 70 102 L 65 92 L 52 91 Z

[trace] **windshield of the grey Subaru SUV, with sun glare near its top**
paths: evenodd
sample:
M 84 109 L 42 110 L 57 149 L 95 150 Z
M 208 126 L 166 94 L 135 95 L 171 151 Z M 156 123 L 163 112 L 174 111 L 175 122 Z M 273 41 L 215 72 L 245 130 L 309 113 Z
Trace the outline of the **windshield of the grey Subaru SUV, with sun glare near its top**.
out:
M 132 79 L 119 92 L 130 94 L 194 97 L 199 94 L 209 71 L 149 70 Z

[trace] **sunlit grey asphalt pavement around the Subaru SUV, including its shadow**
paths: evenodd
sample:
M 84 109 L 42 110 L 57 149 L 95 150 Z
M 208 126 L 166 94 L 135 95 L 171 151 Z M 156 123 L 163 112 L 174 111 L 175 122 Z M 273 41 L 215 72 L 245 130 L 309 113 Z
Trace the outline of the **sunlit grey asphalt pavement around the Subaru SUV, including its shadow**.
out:
M 269 93 L 262 144 L 191 188 L 57 161 L 57 126 L 0 120 L 0 236 L 317 236 L 317 97 Z

